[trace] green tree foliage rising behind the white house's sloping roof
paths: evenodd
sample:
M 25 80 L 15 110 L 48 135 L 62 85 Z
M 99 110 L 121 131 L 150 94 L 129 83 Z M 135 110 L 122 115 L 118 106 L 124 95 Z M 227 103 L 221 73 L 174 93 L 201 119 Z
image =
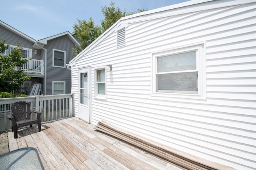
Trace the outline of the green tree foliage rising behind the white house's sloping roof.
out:
M 109 27 L 111 27 L 116 21 L 120 18 L 132 14 L 136 14 L 138 12 L 146 11 L 145 8 L 138 9 L 136 12 L 126 12 L 126 9 L 122 12 L 119 7 L 115 7 L 114 2 L 110 2 L 110 6 L 102 6 L 101 12 L 104 15 L 104 19 L 101 20 L 101 26 L 95 25 L 92 18 L 88 21 L 79 20 L 78 24 L 73 25 L 74 34 L 78 38 L 81 43 L 81 48 L 85 49 L 90 43 L 92 43 L 96 38 L 98 38 L 104 31 L 106 31 Z M 80 53 L 80 49 L 76 47 L 73 49 L 73 55 L 76 56 Z

